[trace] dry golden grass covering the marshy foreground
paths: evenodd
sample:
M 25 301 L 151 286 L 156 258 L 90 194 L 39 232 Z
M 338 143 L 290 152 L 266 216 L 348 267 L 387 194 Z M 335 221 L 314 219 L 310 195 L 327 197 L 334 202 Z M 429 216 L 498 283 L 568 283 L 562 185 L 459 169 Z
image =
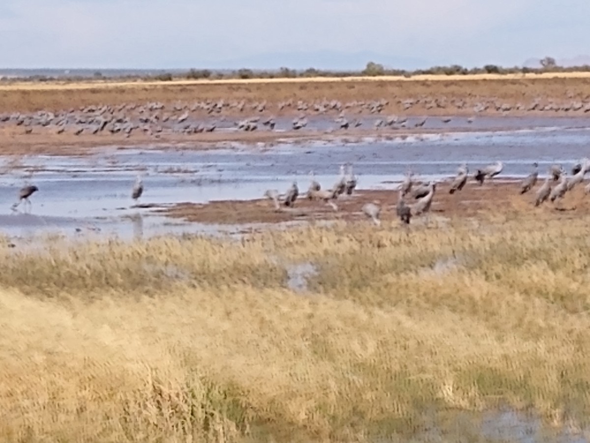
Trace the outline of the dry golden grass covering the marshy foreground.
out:
M 407 441 L 502 405 L 585 425 L 589 221 L 1 252 L 0 439 Z

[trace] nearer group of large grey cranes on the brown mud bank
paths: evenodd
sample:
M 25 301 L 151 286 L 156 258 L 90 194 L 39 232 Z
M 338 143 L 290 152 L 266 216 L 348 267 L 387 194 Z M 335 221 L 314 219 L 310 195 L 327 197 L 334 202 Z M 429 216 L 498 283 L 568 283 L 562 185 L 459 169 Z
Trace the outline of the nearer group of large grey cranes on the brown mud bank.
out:
M 483 185 L 486 180 L 492 180 L 499 175 L 503 171 L 503 168 L 503 162 L 497 161 L 483 168 L 478 168 L 471 177 L 479 185 Z M 554 204 L 560 201 L 576 185 L 583 183 L 585 175 L 589 171 L 590 159 L 588 158 L 583 158 L 573 165 L 571 175 L 568 175 L 560 164 L 550 165 L 548 176 L 536 190 L 535 206 L 540 206 L 548 200 Z M 358 183 L 356 176 L 353 174 L 352 165 L 350 164 L 340 165 L 340 177 L 331 188 L 322 189 L 321 185 L 315 180 L 313 171 L 310 172 L 310 176 L 311 183 L 309 188 L 301 197 L 309 200 L 323 201 L 335 211 L 338 210 L 336 204 L 337 199 L 341 198 L 341 196 L 352 196 Z M 463 190 L 469 177 L 470 173 L 467 164 L 461 164 L 454 178 L 451 180 L 448 193 L 455 194 Z M 532 191 L 538 181 L 539 164 L 535 162 L 533 163 L 533 171 L 520 182 L 520 194 L 526 194 Z M 414 173 L 408 171 L 405 174 L 404 181 L 402 181 L 398 188 L 398 201 L 395 207 L 396 216 L 399 217 L 402 223 L 409 224 L 412 217 L 428 214 L 436 190 L 437 183 L 434 181 L 429 181 L 428 183 L 415 181 Z M 590 193 L 590 183 L 585 185 L 584 191 L 586 194 Z M 281 204 L 286 207 L 293 207 L 297 198 L 300 197 L 297 181 L 293 181 L 284 194 L 281 194 L 276 189 L 269 189 L 264 193 L 264 197 L 273 201 L 276 210 L 281 210 Z M 412 203 L 408 203 L 407 200 L 411 200 Z M 381 224 L 381 205 L 378 200 L 363 204 L 361 211 L 375 224 Z

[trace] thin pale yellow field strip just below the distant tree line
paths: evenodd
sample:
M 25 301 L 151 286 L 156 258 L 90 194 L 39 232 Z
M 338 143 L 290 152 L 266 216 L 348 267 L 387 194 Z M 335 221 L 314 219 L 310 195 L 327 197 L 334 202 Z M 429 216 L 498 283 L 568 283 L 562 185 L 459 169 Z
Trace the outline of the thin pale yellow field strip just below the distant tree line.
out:
M 529 74 L 466 74 L 434 75 L 424 74 L 412 77 L 404 76 L 358 76 L 358 77 L 297 77 L 278 79 L 219 79 L 219 80 L 172 80 L 171 82 L 129 80 L 116 82 L 89 80 L 84 82 L 19 82 L 0 84 L 0 90 L 54 90 L 54 89 L 94 89 L 103 87 L 129 86 L 191 86 L 194 84 L 259 84 L 259 83 L 332 83 L 332 82 L 454 82 L 456 80 L 515 80 L 515 79 L 588 79 L 590 72 L 548 72 Z

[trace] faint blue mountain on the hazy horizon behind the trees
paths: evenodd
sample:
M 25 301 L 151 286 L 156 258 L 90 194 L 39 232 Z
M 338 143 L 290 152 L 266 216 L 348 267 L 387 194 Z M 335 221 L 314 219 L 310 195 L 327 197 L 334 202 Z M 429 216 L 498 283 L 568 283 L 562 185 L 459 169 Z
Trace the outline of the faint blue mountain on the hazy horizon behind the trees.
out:
M 432 66 L 432 62 L 419 57 L 392 56 L 371 51 L 344 53 L 339 51 L 310 51 L 289 53 L 268 53 L 255 56 L 232 58 L 222 61 L 201 61 L 198 68 L 210 69 L 267 69 L 280 67 L 289 69 L 316 68 L 320 70 L 362 70 L 369 61 L 381 63 L 392 69 L 421 69 Z

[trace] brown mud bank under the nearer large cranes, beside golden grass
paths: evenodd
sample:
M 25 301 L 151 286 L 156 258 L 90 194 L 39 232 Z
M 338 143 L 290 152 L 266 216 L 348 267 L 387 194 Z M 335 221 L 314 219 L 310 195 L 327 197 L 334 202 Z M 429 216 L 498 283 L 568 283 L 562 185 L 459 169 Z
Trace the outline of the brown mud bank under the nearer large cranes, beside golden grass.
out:
M 437 193 L 432 203 L 431 217 L 506 217 L 516 218 L 524 214 L 548 219 L 571 219 L 590 214 L 590 196 L 584 196 L 584 187 L 578 185 L 557 204 L 545 203 L 534 207 L 535 191 L 519 194 L 519 182 L 498 182 L 479 186 L 469 183 L 463 191 L 450 195 L 448 184 L 437 185 Z M 282 207 L 276 211 L 270 200 L 250 201 L 212 201 L 208 204 L 182 203 L 171 208 L 159 210 L 168 216 L 189 222 L 241 224 L 241 223 L 280 223 L 290 221 L 322 220 L 368 220 L 360 209 L 363 204 L 378 200 L 382 207 L 381 219 L 388 222 L 396 219 L 395 204 L 397 193 L 392 190 L 359 190 L 356 195 L 336 200 L 339 207 L 334 211 L 317 201 L 300 198 L 293 209 Z M 411 201 L 408 200 L 408 203 Z M 418 217 L 422 218 L 422 217 Z

